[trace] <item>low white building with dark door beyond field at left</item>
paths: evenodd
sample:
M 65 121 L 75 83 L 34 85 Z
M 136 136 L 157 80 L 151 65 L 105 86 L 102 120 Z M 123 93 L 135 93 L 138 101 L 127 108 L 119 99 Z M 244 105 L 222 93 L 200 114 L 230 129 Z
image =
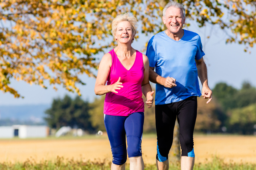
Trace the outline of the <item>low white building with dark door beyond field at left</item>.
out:
M 49 127 L 33 125 L 0 126 L 0 138 L 45 138 L 49 135 Z

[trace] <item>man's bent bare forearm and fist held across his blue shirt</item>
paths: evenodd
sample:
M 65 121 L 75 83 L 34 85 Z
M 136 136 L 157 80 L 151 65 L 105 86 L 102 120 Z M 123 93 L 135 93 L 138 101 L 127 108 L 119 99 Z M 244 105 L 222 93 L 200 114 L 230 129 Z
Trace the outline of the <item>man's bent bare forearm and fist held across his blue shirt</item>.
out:
M 172 77 L 161 77 L 156 72 L 154 72 L 154 67 L 149 67 L 149 81 L 154 82 L 156 84 L 163 85 L 166 88 L 173 88 L 177 86 L 175 84 L 176 79 Z

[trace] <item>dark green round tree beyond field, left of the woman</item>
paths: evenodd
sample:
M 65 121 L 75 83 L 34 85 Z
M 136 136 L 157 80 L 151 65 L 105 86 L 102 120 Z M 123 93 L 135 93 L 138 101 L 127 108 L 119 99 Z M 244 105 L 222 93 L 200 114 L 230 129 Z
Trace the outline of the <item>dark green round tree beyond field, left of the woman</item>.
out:
M 62 126 L 79 127 L 84 130 L 93 131 L 90 123 L 89 103 L 83 101 L 79 96 L 75 99 L 64 96 L 63 99 L 53 99 L 51 108 L 47 109 L 45 118 L 49 127 L 59 129 Z

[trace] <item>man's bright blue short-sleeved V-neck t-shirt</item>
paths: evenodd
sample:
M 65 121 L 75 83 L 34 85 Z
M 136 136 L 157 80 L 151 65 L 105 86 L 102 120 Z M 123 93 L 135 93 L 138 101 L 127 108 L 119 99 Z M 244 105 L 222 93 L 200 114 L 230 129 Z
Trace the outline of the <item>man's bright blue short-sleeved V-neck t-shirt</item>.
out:
M 201 38 L 192 31 L 184 30 L 179 41 L 172 40 L 162 31 L 148 42 L 146 56 L 149 66 L 161 77 L 176 79 L 176 87 L 166 88 L 156 84 L 155 104 L 179 102 L 190 96 L 201 96 L 195 59 L 204 56 Z

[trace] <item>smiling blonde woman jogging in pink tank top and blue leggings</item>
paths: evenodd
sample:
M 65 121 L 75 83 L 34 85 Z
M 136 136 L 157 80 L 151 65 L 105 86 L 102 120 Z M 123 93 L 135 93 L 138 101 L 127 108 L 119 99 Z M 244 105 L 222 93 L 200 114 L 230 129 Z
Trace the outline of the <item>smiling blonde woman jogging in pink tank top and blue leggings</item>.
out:
M 106 94 L 104 122 L 113 155 L 111 170 L 125 170 L 127 152 L 130 170 L 144 169 L 141 153 L 142 94 L 147 98 L 148 108 L 151 108 L 154 91 L 148 80 L 148 57 L 131 47 L 136 23 L 136 18 L 128 13 L 113 20 L 113 37 L 118 45 L 102 57 L 94 89 L 96 95 Z

